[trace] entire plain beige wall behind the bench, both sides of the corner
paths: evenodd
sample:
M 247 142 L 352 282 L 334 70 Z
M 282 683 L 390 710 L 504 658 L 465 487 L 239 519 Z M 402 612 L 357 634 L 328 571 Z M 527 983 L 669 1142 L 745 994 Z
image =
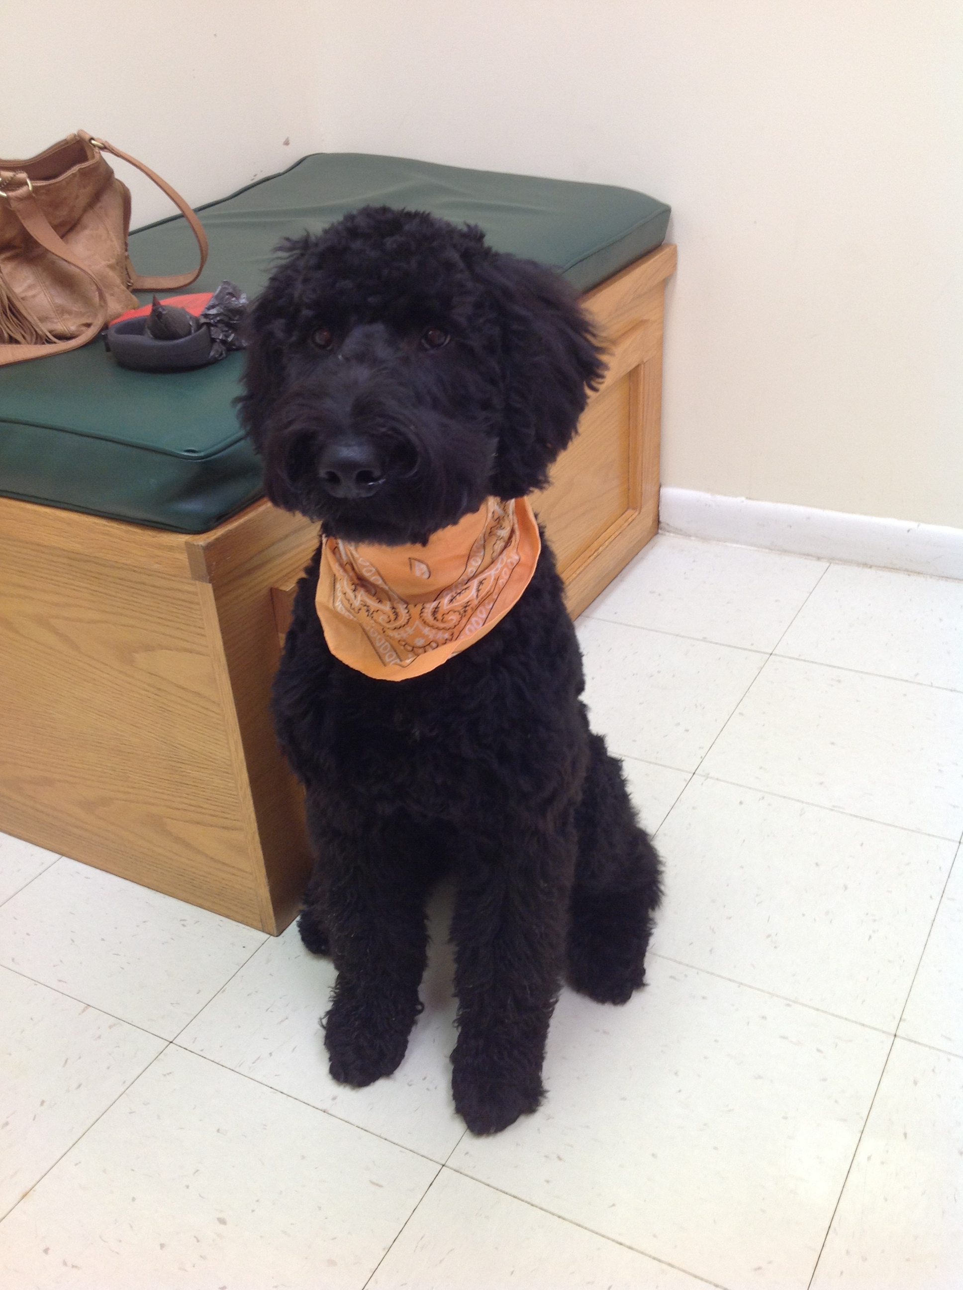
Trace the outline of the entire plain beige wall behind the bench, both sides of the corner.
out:
M 315 148 L 643 188 L 664 482 L 963 526 L 962 46 L 958 0 L 8 0 L 0 155 L 84 124 L 195 203 Z

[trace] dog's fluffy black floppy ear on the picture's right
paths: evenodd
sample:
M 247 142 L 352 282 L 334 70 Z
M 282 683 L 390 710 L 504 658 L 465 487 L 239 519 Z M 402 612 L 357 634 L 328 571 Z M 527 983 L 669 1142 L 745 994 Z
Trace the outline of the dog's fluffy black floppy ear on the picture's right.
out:
M 492 493 L 522 497 L 548 482 L 605 373 L 589 316 L 558 273 L 494 254 L 472 266 L 501 315 L 505 410 Z

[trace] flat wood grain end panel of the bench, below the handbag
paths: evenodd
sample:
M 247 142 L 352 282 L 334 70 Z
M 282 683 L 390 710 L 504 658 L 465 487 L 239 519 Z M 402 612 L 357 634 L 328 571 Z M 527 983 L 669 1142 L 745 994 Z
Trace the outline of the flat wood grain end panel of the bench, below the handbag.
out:
M 0 829 L 259 926 L 195 584 L 4 559 Z

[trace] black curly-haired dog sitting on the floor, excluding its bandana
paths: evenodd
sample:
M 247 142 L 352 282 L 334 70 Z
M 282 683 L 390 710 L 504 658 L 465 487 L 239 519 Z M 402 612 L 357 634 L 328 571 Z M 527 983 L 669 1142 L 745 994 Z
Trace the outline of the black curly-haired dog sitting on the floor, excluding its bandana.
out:
M 348 542 L 423 542 L 485 497 L 544 486 L 605 370 L 548 268 L 480 230 L 365 208 L 289 240 L 249 324 L 241 418 L 276 506 Z M 371 680 L 298 584 L 275 684 L 317 857 L 300 916 L 338 969 L 335 1080 L 391 1075 L 420 1011 L 425 897 L 454 873 L 455 1106 L 498 1133 L 541 1096 L 563 977 L 642 984 L 659 858 L 579 699 L 581 657 L 545 546 L 516 606 L 425 676 Z

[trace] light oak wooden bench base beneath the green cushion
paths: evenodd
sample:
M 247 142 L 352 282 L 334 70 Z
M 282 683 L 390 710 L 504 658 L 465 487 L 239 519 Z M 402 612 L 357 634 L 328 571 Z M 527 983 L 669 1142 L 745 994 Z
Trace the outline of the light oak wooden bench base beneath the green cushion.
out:
M 610 368 L 535 499 L 579 614 L 659 524 L 664 245 L 588 292 Z M 268 708 L 316 526 L 0 498 L 0 831 L 277 934 L 311 866 Z

